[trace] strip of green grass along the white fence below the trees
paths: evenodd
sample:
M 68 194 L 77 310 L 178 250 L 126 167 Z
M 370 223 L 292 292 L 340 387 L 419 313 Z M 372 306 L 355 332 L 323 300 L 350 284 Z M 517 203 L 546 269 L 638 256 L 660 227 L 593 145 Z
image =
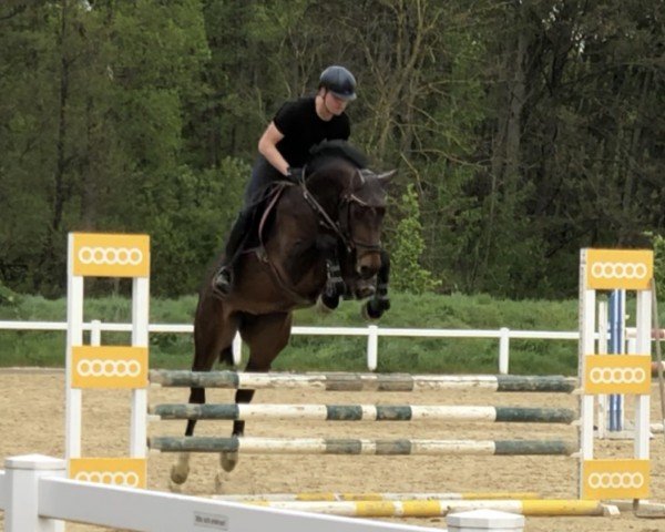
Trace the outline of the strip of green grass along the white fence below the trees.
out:
M 191 324 L 196 297 L 151 300 L 151 323 Z M 359 327 L 360 304 L 345 301 L 331 314 L 314 309 L 298 310 L 295 325 Z M 37 296 L 20 296 L 11 305 L 0 306 L 0 319 L 64 321 L 66 301 Z M 129 323 L 130 300 L 124 297 L 89 298 L 84 319 Z M 487 295 L 415 296 L 396 294 L 392 308 L 378 324 L 380 327 L 576 330 L 577 303 L 494 299 Z M 126 344 L 129 334 L 103 335 L 104 344 Z M 88 340 L 85 340 L 88 341 Z M 0 366 L 62 367 L 65 334 L 62 331 L 0 330 Z M 366 369 L 366 337 L 294 335 L 290 345 L 274 364 L 276 370 Z M 188 368 L 194 345 L 191 335 L 152 334 L 153 368 Z M 479 338 L 402 338 L 379 339 L 379 371 L 494 374 L 498 368 L 499 340 Z M 244 352 L 246 357 L 246 350 Z M 511 340 L 510 372 L 523 375 L 574 375 L 577 345 L 572 340 Z

